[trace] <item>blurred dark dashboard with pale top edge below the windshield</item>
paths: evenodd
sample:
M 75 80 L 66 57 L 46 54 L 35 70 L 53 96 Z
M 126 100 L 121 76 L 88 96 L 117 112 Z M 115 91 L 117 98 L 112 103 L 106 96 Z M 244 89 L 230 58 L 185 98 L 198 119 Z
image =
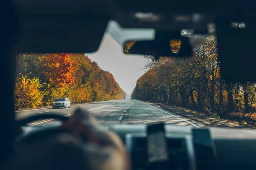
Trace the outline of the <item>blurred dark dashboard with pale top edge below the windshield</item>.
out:
M 23 135 L 58 126 L 23 126 Z M 132 169 L 148 169 L 147 126 L 145 124 L 102 125 L 116 132 L 125 143 Z M 246 169 L 256 168 L 256 130 L 164 125 L 167 142 L 168 169 Z M 207 136 L 202 132 L 209 132 Z M 196 133 L 199 135 L 195 135 Z M 209 144 L 209 141 L 212 144 Z

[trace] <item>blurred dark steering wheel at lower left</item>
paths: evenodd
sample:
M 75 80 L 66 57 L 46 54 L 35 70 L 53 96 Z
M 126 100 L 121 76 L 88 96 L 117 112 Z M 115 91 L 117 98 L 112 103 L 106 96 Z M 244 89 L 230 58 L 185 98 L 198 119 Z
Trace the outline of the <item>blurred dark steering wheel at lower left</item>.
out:
M 70 118 L 52 112 L 29 116 L 16 123 L 20 127 L 38 119 L 58 119 L 65 122 Z M 28 170 L 35 167 L 40 170 L 86 169 L 83 152 L 86 142 L 83 136 L 58 127 L 42 128 L 23 134 L 15 143 L 15 166 Z

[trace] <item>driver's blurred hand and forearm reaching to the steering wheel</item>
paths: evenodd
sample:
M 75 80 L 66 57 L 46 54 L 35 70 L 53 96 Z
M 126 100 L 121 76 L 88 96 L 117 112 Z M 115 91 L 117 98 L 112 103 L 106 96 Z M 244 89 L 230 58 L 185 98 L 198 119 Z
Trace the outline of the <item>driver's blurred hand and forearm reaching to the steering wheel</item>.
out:
M 84 146 L 87 164 L 92 170 L 129 170 L 130 160 L 119 136 L 103 130 L 88 112 L 76 110 L 60 128 L 80 133 L 88 140 Z

